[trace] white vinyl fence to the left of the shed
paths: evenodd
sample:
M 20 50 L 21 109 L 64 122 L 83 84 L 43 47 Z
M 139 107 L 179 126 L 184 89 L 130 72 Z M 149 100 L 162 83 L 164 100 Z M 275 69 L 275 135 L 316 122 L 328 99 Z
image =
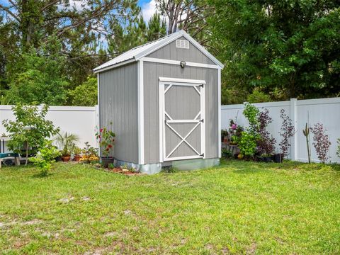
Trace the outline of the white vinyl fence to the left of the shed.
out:
M 6 134 L 6 129 L 2 125 L 3 120 L 13 120 L 12 106 L 0 106 L 0 137 Z M 78 135 L 77 145 L 84 147 L 84 142 L 89 142 L 92 147 L 97 147 L 95 138 L 98 127 L 97 106 L 50 106 L 46 115 L 55 127 L 60 127 L 61 132 L 68 132 Z

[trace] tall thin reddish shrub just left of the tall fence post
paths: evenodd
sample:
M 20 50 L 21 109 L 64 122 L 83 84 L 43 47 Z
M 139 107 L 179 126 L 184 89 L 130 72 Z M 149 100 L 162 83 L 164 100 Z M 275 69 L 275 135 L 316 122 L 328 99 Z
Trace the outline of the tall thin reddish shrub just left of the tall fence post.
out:
M 282 125 L 278 133 L 282 137 L 282 140 L 278 145 L 280 146 L 283 157 L 286 157 L 288 155 L 288 149 L 290 147 L 289 139 L 295 134 L 295 128 L 293 125 L 293 120 L 291 120 L 288 115 L 285 114 L 284 109 L 281 109 L 280 111 L 280 118 L 282 119 Z

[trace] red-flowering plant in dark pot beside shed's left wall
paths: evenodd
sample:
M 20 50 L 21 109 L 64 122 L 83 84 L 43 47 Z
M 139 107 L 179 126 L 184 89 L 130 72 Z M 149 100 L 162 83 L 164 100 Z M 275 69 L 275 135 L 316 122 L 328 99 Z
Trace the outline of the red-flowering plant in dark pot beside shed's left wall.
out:
M 101 128 L 99 132 L 96 132 L 96 138 L 99 141 L 101 147 L 101 163 L 104 167 L 108 167 L 108 164 L 113 164 L 113 157 L 110 156 L 113 152 L 113 144 L 115 142 L 115 133 L 108 128 Z

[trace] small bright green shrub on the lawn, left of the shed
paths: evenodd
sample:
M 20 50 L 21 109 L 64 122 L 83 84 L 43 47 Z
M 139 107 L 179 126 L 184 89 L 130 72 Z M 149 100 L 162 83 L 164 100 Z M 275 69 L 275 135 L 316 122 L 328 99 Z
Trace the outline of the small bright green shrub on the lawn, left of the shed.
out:
M 61 153 L 57 147 L 52 145 L 52 141 L 45 140 L 43 146 L 39 149 L 38 154 L 35 157 L 30 158 L 30 162 L 40 169 L 40 174 L 42 176 L 46 176 L 51 170 L 55 158 L 60 155 Z

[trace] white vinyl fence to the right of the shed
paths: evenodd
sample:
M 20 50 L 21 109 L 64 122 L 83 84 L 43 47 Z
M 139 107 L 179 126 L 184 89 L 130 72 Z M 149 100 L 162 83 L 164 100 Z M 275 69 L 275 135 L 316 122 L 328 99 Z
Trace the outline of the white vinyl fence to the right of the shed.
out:
M 290 101 L 271 102 L 271 103 L 254 103 L 261 109 L 267 108 L 269 115 L 273 118 L 273 123 L 268 125 L 268 131 L 276 138 L 276 147 L 281 138 L 278 134 L 282 119 L 280 118 L 280 110 L 285 109 L 285 113 L 290 116 L 295 124 L 295 137 L 291 138 L 290 159 L 307 162 L 307 145 L 302 130 L 306 123 L 312 127 L 316 123 L 322 123 L 327 130 L 327 134 L 331 140 L 329 149 L 329 157 L 331 162 L 340 163 L 340 158 L 336 155 L 338 144 L 337 138 L 340 138 L 340 98 L 322 98 L 311 100 L 299 100 L 292 98 Z M 221 125 L 223 129 L 229 128 L 229 120 L 237 120 L 237 125 L 247 126 L 248 122 L 244 118 L 243 105 L 222 106 Z M 310 132 L 311 159 L 313 162 L 319 162 L 314 146 L 312 145 L 312 133 Z

